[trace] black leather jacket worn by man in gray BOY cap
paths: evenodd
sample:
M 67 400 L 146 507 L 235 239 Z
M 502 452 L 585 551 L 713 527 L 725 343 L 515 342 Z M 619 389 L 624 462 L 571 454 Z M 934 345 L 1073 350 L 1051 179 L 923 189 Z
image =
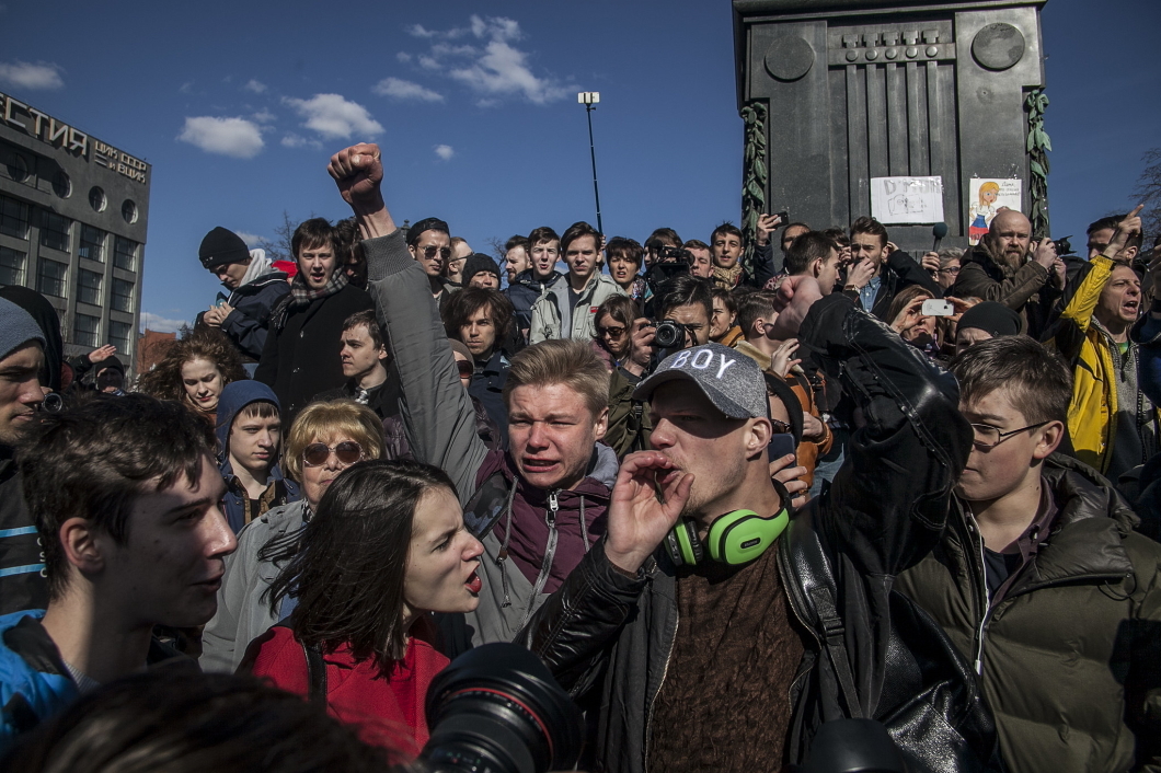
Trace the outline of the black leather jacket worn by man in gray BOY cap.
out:
M 916 771 L 1001 765 L 995 727 L 971 667 L 939 627 L 892 591 L 936 544 L 972 434 L 954 381 L 839 294 L 819 301 L 800 341 L 863 409 L 846 462 L 779 540 L 792 606 L 814 634 L 792 687 L 789 763 L 819 727 L 884 722 Z M 579 698 L 599 688 L 598 770 L 648 770 L 649 717 L 677 630 L 675 569 L 663 550 L 636 578 L 591 550 L 521 631 Z

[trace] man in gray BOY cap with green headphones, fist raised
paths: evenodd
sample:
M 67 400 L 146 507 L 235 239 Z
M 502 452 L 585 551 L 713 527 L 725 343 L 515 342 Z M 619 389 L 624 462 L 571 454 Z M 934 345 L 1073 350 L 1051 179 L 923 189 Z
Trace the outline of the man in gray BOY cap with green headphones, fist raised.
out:
M 783 338 L 842 373 L 865 417 L 834 484 L 791 512 L 757 363 L 717 344 L 673 354 L 634 395 L 654 450 L 622 462 L 607 539 L 517 641 L 575 698 L 599 691 L 590 761 L 610 773 L 801 765 L 844 717 L 884 722 L 914 770 L 988 770 L 971 666 L 889 597 L 967 458 L 954 382 L 813 277 L 785 280 L 779 304 Z

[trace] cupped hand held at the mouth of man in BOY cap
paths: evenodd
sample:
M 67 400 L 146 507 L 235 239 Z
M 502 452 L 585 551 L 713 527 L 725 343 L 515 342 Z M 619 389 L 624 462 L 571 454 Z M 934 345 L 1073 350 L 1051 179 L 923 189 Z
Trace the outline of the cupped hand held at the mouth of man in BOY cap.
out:
M 693 474 L 673 469 L 661 451 L 626 456 L 608 504 L 608 559 L 637 571 L 677 523 L 692 485 Z

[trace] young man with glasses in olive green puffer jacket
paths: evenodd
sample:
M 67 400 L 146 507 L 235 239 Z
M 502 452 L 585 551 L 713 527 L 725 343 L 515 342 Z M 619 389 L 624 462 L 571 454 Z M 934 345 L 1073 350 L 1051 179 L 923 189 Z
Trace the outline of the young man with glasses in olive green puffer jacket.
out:
M 895 587 L 980 674 L 1011 771 L 1161 760 L 1161 546 L 1091 468 L 1053 454 L 1072 376 L 1024 335 L 952 366 L 975 432 L 939 546 Z

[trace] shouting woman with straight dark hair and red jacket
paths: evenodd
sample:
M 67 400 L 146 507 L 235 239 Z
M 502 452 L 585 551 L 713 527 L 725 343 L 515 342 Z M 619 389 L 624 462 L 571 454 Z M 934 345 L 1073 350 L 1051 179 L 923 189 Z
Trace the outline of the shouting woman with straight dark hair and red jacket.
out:
M 355 464 L 287 546 L 289 563 L 267 598 L 272 611 L 284 613 L 288 600 L 294 609 L 251 644 L 239 671 L 325 699 L 368 743 L 382 742 L 384 723 L 406 727 L 418 753 L 427 686 L 448 664 L 427 613 L 478 606 L 482 552 L 446 472 L 419 462 Z

